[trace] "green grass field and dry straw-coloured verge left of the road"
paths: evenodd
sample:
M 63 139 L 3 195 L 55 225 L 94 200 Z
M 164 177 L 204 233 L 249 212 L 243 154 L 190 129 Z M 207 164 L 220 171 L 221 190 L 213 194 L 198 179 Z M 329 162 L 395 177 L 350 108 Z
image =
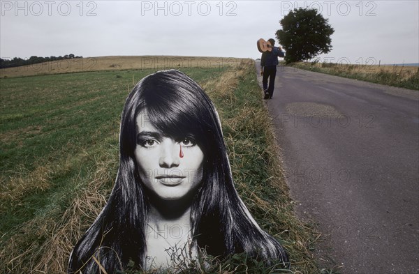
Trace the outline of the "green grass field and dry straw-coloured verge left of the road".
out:
M 158 70 L 131 66 L 0 79 L 0 273 L 66 272 L 73 245 L 115 181 L 128 91 Z M 237 190 L 260 226 L 284 244 L 291 272 L 319 273 L 309 253 L 316 234 L 293 213 L 253 61 L 179 69 L 214 101 Z M 205 273 L 245 268 L 236 258 Z

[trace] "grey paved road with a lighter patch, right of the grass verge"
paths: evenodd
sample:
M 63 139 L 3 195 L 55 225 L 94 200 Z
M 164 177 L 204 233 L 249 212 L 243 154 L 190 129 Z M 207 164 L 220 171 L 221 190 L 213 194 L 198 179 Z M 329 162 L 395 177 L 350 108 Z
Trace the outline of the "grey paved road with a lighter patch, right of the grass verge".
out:
M 321 266 L 419 273 L 419 92 L 278 67 L 266 102 Z

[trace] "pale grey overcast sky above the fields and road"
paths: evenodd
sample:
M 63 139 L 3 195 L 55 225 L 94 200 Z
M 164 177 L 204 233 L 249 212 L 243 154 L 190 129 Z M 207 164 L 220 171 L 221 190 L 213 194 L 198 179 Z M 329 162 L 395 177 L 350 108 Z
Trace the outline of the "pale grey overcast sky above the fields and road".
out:
M 0 56 L 259 58 L 292 8 L 335 29 L 322 61 L 419 63 L 419 1 L 3 1 Z

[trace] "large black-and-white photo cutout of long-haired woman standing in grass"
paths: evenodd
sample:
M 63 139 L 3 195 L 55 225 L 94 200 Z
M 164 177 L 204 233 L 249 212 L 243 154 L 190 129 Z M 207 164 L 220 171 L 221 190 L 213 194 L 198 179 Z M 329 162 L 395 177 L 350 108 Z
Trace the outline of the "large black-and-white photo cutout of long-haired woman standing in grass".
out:
M 126 99 L 119 169 L 107 204 L 75 245 L 68 273 L 115 273 L 128 264 L 170 269 L 211 255 L 288 257 L 260 229 L 233 183 L 216 109 L 178 70 L 143 78 Z M 182 256 L 175 256 L 177 253 Z

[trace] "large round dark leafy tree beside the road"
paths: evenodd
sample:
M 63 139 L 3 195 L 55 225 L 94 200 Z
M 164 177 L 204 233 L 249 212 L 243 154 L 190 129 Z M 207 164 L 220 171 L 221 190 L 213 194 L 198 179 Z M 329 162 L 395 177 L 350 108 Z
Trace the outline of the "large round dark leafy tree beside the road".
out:
M 281 20 L 277 39 L 286 50 L 286 63 L 309 60 L 332 50 L 335 30 L 316 9 L 295 8 Z

